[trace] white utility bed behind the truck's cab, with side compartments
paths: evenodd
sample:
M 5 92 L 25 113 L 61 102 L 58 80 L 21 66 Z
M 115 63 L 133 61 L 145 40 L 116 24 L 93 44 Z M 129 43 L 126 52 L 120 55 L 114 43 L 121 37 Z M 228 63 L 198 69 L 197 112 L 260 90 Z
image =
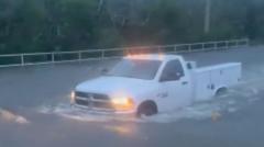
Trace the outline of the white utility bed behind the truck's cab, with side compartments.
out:
M 220 88 L 229 88 L 241 79 L 241 64 L 230 63 L 193 71 L 195 101 L 211 99 Z

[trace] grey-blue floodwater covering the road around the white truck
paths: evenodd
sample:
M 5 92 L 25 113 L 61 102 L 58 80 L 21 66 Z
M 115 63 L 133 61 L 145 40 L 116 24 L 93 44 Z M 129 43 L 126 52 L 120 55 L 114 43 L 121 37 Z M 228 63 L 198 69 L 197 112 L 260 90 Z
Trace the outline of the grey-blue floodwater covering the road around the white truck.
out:
M 65 114 L 73 88 L 118 59 L 0 68 L 0 147 L 263 147 L 264 47 L 183 55 L 198 66 L 241 61 L 243 81 L 180 112 L 117 120 Z

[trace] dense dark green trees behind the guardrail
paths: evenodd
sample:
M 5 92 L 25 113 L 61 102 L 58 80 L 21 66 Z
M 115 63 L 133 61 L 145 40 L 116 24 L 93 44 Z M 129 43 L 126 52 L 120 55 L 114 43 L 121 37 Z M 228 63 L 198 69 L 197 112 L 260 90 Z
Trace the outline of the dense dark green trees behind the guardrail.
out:
M 0 54 L 172 44 L 264 34 L 263 0 L 0 0 Z

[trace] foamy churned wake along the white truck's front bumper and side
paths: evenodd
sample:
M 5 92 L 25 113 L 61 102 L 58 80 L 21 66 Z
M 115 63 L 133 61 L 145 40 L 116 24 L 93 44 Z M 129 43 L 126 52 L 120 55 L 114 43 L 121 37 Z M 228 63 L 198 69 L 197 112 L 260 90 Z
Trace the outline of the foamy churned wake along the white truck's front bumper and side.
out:
M 211 101 L 194 103 L 182 110 L 175 110 L 167 113 L 158 113 L 154 116 L 136 118 L 134 116 L 95 114 L 87 110 L 72 108 L 69 104 L 61 103 L 56 106 L 44 105 L 38 108 L 38 112 L 46 114 L 56 114 L 65 118 L 81 122 L 138 122 L 138 123 L 170 123 L 183 118 L 189 120 L 219 120 L 223 113 L 234 113 L 250 102 L 260 100 L 257 98 L 258 89 L 254 87 L 240 86 L 229 90 L 227 94 L 215 98 Z

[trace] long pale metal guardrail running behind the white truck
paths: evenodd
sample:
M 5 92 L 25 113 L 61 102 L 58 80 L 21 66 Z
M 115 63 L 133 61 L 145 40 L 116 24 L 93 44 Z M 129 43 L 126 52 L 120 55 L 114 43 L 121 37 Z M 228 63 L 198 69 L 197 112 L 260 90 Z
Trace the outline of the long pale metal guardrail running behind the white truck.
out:
M 134 52 L 147 53 L 193 53 L 207 50 L 223 50 L 228 48 L 238 48 L 249 46 L 249 39 L 231 39 L 204 42 L 193 44 L 175 44 L 160 46 L 140 46 L 124 48 L 108 48 L 108 49 L 89 49 L 76 52 L 54 52 L 54 53 L 30 53 L 30 54 L 8 54 L 0 55 L 0 67 L 28 66 L 55 64 L 67 61 L 98 60 L 122 57 Z

